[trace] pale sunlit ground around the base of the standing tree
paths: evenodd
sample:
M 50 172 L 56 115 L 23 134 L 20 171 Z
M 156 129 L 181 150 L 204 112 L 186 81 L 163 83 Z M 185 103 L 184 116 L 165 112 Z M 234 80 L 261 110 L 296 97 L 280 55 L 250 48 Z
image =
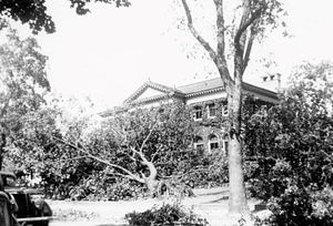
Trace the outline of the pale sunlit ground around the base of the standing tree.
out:
M 235 225 L 241 216 L 228 216 L 228 188 L 194 189 L 195 197 L 185 197 L 181 204 L 202 218 L 206 218 L 211 226 Z M 125 225 L 123 219 L 127 213 L 144 212 L 154 205 L 174 202 L 165 199 L 141 199 L 131 202 L 70 202 L 50 201 L 51 208 L 58 214 L 73 213 L 67 219 L 59 217 L 51 222 L 50 226 L 120 226 Z M 254 210 L 256 201 L 249 201 L 249 207 Z M 59 214 L 60 213 L 60 214 Z M 74 214 L 75 213 L 75 214 Z M 245 218 L 246 226 L 252 225 L 250 218 Z

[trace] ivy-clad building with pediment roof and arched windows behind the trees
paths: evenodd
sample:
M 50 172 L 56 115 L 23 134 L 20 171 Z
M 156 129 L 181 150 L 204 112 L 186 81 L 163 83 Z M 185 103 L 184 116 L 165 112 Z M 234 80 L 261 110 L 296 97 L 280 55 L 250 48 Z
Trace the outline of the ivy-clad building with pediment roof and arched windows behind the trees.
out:
M 279 102 L 276 92 L 249 83 L 243 83 L 243 93 L 263 102 Z M 205 152 L 218 148 L 228 154 L 228 134 L 221 123 L 228 116 L 226 92 L 220 78 L 176 88 L 148 81 L 129 96 L 123 105 L 152 107 L 161 103 L 190 105 L 193 109 L 193 120 L 198 125 L 196 137 L 193 141 L 194 147 Z M 105 111 L 101 115 L 109 116 L 111 112 L 114 111 Z

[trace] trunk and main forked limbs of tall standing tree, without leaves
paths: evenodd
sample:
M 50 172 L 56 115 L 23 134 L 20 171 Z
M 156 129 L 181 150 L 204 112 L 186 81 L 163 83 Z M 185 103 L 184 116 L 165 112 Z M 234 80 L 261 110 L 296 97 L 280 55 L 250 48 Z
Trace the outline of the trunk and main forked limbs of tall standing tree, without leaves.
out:
M 223 0 L 213 0 L 216 10 L 216 50 L 213 50 L 193 25 L 190 8 L 186 0 L 181 0 L 188 19 L 188 27 L 193 37 L 209 53 L 211 60 L 215 63 L 224 89 L 228 93 L 229 107 L 229 179 L 230 179 L 230 197 L 229 213 L 248 215 L 249 207 L 245 196 L 244 173 L 242 165 L 242 141 L 241 141 L 241 109 L 242 109 L 242 82 L 243 74 L 250 60 L 254 33 L 251 30 L 250 40 L 248 41 L 248 29 L 253 24 L 254 20 L 260 16 L 258 9 L 251 14 L 250 0 L 242 1 L 243 13 L 239 29 L 236 29 L 233 47 L 234 47 L 234 73 L 231 76 L 225 58 L 225 35 Z

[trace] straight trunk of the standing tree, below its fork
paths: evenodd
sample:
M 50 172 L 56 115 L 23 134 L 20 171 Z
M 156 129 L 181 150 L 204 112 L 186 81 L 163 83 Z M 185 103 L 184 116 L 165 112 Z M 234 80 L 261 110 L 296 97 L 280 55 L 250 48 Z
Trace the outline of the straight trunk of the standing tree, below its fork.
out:
M 226 88 L 228 89 L 228 88 Z M 228 91 L 229 106 L 229 214 L 249 215 L 244 173 L 242 167 L 242 141 L 241 141 L 241 107 L 242 86 L 241 82 Z

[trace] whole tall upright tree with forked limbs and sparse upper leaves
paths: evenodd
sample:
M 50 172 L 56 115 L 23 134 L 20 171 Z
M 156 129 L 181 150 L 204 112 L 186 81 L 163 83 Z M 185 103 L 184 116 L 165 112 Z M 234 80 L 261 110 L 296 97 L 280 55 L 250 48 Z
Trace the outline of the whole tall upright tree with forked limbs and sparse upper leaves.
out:
M 230 176 L 230 214 L 248 214 L 244 176 L 242 171 L 242 138 L 241 138 L 241 109 L 242 83 L 245 69 L 250 61 L 253 43 L 263 38 L 269 29 L 276 28 L 283 10 L 278 0 L 242 0 L 232 13 L 234 23 L 226 24 L 226 4 L 234 2 L 213 0 L 215 7 L 215 42 L 212 48 L 193 24 L 191 4 L 181 0 L 188 20 L 188 28 L 198 42 L 208 52 L 214 62 L 228 93 L 229 109 L 229 176 Z M 205 2 L 206 3 L 206 2 Z M 238 24 L 236 24 L 238 22 Z M 233 73 L 228 65 L 228 49 L 233 55 Z

